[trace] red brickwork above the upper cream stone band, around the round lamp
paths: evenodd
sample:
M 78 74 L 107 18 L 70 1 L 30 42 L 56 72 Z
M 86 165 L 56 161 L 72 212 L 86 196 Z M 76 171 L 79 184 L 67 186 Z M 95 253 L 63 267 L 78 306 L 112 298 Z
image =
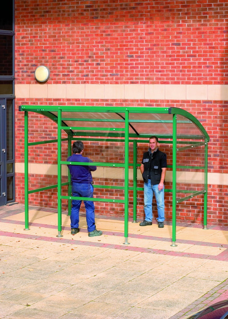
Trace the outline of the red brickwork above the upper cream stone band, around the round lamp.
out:
M 35 83 L 227 84 L 227 1 L 15 0 L 16 75 Z

